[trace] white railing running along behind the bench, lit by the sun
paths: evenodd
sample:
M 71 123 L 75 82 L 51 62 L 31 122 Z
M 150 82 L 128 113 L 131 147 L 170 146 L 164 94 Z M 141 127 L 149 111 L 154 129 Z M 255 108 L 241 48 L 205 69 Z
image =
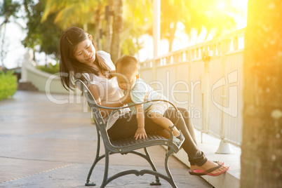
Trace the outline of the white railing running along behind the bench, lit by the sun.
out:
M 241 145 L 245 29 L 140 63 L 150 86 L 189 110 L 195 128 Z

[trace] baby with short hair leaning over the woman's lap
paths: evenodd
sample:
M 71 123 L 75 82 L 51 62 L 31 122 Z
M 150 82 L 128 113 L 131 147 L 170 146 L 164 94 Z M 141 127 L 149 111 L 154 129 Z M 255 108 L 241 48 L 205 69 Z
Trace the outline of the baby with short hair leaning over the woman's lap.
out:
M 128 103 L 128 105 L 144 102 L 147 100 L 167 100 L 167 98 L 160 93 L 157 93 L 153 88 L 147 85 L 145 81 L 140 79 L 140 74 L 138 74 L 138 61 L 135 57 L 130 55 L 123 55 L 116 62 L 116 79 L 119 84 L 119 88 L 123 90 L 124 95 L 130 95 L 133 101 Z M 122 98 L 119 100 L 122 105 Z M 168 102 L 149 102 L 144 105 L 136 105 L 135 107 L 130 107 L 130 111 L 136 114 L 137 118 L 137 130 L 135 133 L 135 139 L 145 138 L 147 134 L 145 132 L 144 123 L 144 112 L 150 116 L 154 123 L 159 124 L 166 130 L 170 130 L 169 126 L 173 126 L 173 122 L 163 116 L 168 109 Z M 180 145 L 184 142 L 184 136 L 180 130 L 176 127 L 173 128 L 173 142 Z

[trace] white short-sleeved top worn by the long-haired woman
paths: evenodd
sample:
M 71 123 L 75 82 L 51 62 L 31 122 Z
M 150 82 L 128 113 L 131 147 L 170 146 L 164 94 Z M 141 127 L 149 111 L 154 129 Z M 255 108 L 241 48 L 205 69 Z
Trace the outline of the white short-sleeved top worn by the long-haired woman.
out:
M 97 51 L 97 55 L 102 58 L 102 60 L 112 71 L 116 69 L 109 53 L 106 53 L 105 51 Z M 90 80 L 89 74 L 85 75 L 88 77 L 88 80 Z M 112 79 L 107 79 L 93 74 L 93 80 L 90 81 L 90 84 L 94 84 L 98 87 L 102 105 L 119 102 L 119 98 L 123 97 L 123 91 L 121 90 L 121 88 L 119 88 L 119 85 L 116 81 L 116 76 L 112 77 Z M 109 119 L 107 129 L 112 127 L 114 122 L 119 119 L 119 116 L 125 114 L 126 112 L 129 112 L 129 109 L 121 109 L 121 111 L 122 113 L 120 115 L 116 113 L 112 116 L 111 119 Z

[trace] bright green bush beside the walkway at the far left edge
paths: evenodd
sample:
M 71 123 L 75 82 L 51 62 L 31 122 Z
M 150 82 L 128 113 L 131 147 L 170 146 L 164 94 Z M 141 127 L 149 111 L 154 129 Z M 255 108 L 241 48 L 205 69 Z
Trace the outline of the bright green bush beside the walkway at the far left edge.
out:
M 9 98 L 17 90 L 17 77 L 13 72 L 0 72 L 0 100 Z

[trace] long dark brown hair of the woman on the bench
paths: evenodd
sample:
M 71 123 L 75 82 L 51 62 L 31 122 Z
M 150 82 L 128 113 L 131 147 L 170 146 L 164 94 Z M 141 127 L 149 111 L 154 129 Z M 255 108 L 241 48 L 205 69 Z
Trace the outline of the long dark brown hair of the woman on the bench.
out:
M 74 90 L 73 79 L 78 78 L 81 81 L 88 83 L 89 78 L 83 73 L 88 73 L 90 79 L 93 79 L 93 74 L 99 76 L 99 70 L 89 65 L 83 64 L 74 58 L 74 51 L 76 51 L 77 45 L 86 39 L 89 39 L 89 34 L 79 27 L 69 27 L 60 37 L 60 81 L 62 86 L 69 90 Z M 95 65 L 97 65 L 102 74 L 109 71 L 109 68 L 105 65 L 102 58 L 97 55 L 98 49 L 92 40 L 93 46 L 96 51 Z

